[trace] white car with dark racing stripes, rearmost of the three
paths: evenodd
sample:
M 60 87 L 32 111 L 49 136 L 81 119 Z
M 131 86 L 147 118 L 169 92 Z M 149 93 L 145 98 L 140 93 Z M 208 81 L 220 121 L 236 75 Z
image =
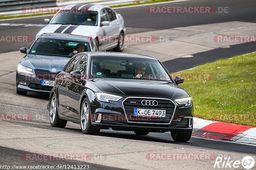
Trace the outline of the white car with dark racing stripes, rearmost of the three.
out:
M 113 48 L 122 52 L 124 49 L 124 19 L 108 6 L 68 5 L 60 8 L 51 21 L 44 21 L 48 25 L 37 33 L 36 38 L 43 33 L 69 33 L 92 37 L 100 51 Z

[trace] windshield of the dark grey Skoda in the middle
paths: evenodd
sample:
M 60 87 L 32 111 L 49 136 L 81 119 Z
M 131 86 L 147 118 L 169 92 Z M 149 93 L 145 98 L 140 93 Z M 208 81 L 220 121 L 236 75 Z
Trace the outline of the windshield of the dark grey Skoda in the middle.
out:
M 76 53 L 91 51 L 88 42 L 38 38 L 29 54 L 72 57 Z

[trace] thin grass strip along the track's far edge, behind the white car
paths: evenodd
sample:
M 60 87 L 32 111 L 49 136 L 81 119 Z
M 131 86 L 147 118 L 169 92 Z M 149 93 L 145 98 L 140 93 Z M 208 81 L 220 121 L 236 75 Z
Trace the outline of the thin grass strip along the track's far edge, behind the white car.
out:
M 138 1 L 139 1 L 139 0 L 138 0 Z M 115 6 L 110 6 L 110 7 L 111 7 L 111 8 L 115 8 L 115 7 L 122 7 L 122 6 L 132 6 L 132 5 L 140 5 L 140 4 L 151 4 L 151 3 L 157 3 L 157 2 L 168 2 L 168 1 L 175 1 L 175 0 L 152 0 L 152 1 L 142 2 L 142 3 L 124 4 L 124 5 L 115 5 Z M 54 12 L 54 13 L 46 13 L 46 14 L 33 14 L 33 15 L 20 15 L 20 16 L 7 16 L 7 17 L 0 17 L 0 19 L 11 19 L 11 18 L 34 17 L 34 16 L 51 15 L 51 14 L 56 14 L 56 12 Z

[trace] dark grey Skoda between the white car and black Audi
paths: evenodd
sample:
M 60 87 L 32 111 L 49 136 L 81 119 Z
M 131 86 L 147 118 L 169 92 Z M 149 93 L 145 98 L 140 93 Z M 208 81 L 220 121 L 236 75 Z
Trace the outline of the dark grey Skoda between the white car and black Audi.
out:
M 79 52 L 99 51 L 94 39 L 85 36 L 45 33 L 40 35 L 17 66 L 17 94 L 51 92 L 55 76 Z

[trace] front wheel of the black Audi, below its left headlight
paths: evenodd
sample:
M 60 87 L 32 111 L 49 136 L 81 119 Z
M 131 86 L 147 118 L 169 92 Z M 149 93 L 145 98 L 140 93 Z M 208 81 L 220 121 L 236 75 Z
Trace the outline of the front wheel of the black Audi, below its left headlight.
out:
M 92 126 L 91 121 L 91 108 L 90 102 L 87 98 L 84 99 L 80 111 L 80 126 L 84 134 L 97 135 L 100 132 L 100 129 L 96 129 Z

